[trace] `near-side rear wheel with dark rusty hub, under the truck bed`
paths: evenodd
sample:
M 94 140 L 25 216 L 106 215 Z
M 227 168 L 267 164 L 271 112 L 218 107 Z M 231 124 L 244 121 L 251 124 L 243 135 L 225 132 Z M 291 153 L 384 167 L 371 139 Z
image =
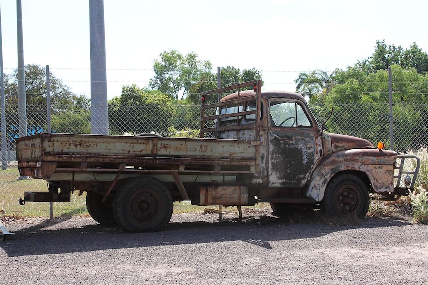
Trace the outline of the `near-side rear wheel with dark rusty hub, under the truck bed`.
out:
M 119 225 L 127 231 L 157 231 L 169 222 L 173 207 L 172 196 L 161 181 L 141 176 L 119 189 L 113 213 Z

